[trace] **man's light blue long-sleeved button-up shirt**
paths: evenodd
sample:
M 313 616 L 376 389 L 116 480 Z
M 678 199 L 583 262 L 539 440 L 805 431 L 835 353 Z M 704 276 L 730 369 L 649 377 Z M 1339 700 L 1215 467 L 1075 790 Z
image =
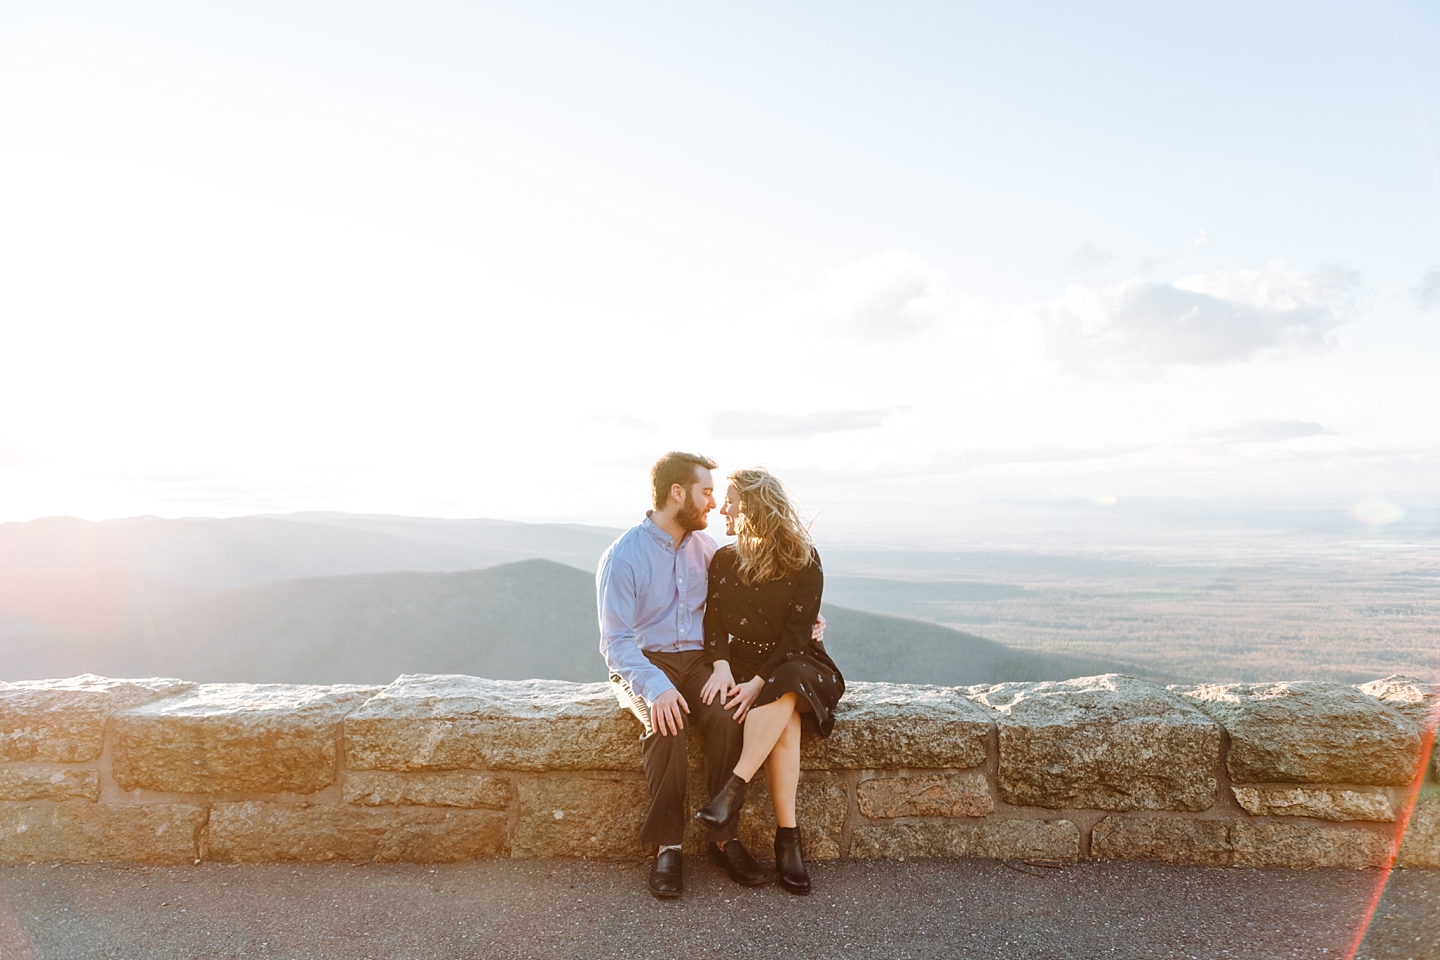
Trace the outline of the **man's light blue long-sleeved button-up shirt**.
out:
M 696 531 L 685 534 L 680 550 L 674 544 L 647 514 L 609 545 L 595 574 L 600 653 L 647 704 L 674 684 L 645 652 L 704 649 L 706 571 L 716 541 Z

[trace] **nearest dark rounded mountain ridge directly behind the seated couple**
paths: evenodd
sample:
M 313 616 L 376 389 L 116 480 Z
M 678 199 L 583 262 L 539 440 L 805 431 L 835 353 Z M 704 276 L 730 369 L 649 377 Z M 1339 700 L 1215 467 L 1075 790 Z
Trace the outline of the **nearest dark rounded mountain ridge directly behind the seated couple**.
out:
M 1063 679 L 1122 664 L 1014 651 L 933 623 L 825 604 L 852 679 Z M 78 672 L 210 682 L 387 684 L 400 674 L 605 679 L 595 579 L 549 560 L 464 573 L 281 580 L 181 603 L 105 633 L 0 640 L 4 678 Z

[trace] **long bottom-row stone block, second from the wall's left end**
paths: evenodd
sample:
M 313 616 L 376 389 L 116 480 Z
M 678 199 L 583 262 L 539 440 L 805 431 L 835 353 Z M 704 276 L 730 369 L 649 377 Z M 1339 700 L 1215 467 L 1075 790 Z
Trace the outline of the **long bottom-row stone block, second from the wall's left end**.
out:
M 216 803 L 204 856 L 242 864 L 377 861 L 442 864 L 507 852 L 508 820 L 495 810 L 321 803 Z

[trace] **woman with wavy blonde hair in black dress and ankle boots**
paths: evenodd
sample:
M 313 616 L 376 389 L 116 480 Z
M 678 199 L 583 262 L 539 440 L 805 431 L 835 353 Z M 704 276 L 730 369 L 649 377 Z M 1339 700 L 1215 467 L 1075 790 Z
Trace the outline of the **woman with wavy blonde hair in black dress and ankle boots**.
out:
M 834 727 L 845 681 L 811 639 L 825 577 L 819 554 L 785 488 L 763 469 L 729 476 L 726 534 L 736 540 L 710 561 L 706 599 L 707 704 L 721 698 L 744 723 L 744 747 L 730 779 L 696 819 L 720 829 L 739 816 L 744 789 L 765 766 L 775 802 L 775 871 L 795 894 L 811 891 L 795 823 L 801 776 L 801 714 L 815 715 L 821 737 Z

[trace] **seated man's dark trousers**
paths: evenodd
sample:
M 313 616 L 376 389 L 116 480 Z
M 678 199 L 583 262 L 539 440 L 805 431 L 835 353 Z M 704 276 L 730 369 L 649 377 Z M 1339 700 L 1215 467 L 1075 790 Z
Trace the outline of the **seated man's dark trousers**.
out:
M 700 747 L 704 750 L 706 796 L 704 803 L 724 786 L 740 761 L 740 747 L 744 746 L 744 728 L 734 723 L 716 697 L 713 704 L 700 702 L 700 688 L 710 679 L 710 664 L 701 651 L 680 653 L 645 653 L 649 662 L 665 671 L 665 676 L 685 698 L 690 712 L 684 714 L 685 731 L 698 731 Z M 670 846 L 685 836 L 685 822 L 690 810 L 685 807 L 685 780 L 688 766 L 685 759 L 685 733 L 661 735 L 649 718 L 645 698 L 634 692 L 625 681 L 611 674 L 611 687 L 621 705 L 635 714 L 645 728 L 641 737 L 641 760 L 645 764 L 645 783 L 649 784 L 649 812 L 639 828 L 639 839 L 645 843 Z M 734 822 L 723 832 L 707 830 L 711 842 L 734 839 Z

